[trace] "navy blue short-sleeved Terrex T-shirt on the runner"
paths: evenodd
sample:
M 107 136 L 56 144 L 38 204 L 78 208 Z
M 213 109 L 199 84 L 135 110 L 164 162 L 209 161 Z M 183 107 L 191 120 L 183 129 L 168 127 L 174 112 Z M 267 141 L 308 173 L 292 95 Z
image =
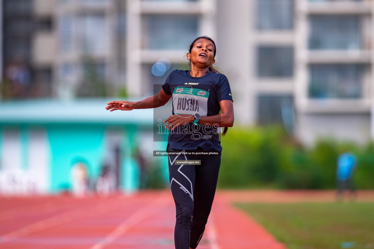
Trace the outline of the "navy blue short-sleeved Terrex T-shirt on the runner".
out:
M 231 100 L 230 84 L 227 77 L 214 71 L 202 77 L 192 77 L 190 71 L 174 70 L 162 85 L 164 92 L 172 95 L 172 115 L 199 113 L 200 116 L 218 115 L 221 100 Z M 173 149 L 217 150 L 221 153 L 217 125 L 184 124 L 170 131 L 168 144 Z

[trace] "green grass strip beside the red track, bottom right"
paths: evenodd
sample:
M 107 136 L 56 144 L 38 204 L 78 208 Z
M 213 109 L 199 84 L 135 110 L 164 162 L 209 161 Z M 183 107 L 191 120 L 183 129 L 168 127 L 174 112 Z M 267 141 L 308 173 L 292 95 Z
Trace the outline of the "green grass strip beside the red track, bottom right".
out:
M 374 202 L 236 203 L 289 249 L 374 249 Z

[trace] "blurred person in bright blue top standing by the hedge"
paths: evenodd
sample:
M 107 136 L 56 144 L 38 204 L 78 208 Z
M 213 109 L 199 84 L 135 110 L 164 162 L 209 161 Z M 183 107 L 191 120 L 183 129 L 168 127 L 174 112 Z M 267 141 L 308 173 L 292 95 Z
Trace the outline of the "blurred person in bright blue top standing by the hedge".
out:
M 349 189 L 352 194 L 355 193 L 353 171 L 356 168 L 356 164 L 356 156 L 351 152 L 342 153 L 338 156 L 336 169 L 338 200 L 343 199 L 343 194 L 346 189 Z

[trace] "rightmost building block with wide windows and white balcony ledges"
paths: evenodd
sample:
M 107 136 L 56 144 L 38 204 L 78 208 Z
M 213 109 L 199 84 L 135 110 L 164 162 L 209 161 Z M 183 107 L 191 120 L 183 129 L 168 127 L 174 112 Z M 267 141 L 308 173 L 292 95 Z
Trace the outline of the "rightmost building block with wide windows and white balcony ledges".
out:
M 294 96 L 304 142 L 373 136 L 373 10 L 365 0 L 297 2 Z

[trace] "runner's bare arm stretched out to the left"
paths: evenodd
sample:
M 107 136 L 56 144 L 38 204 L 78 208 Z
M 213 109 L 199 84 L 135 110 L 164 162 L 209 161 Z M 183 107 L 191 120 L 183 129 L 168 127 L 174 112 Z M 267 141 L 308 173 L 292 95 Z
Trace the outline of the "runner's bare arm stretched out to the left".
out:
M 122 111 L 130 111 L 132 109 L 148 109 L 148 108 L 157 108 L 160 106 L 165 105 L 168 103 L 169 99 L 171 98 L 171 95 L 168 95 L 164 92 L 164 90 L 161 88 L 159 93 L 148 97 L 146 99 L 132 102 L 132 101 L 126 101 L 126 100 L 118 100 L 118 101 L 112 101 L 107 103 L 107 107 L 105 109 L 110 111 L 115 110 L 122 110 Z

